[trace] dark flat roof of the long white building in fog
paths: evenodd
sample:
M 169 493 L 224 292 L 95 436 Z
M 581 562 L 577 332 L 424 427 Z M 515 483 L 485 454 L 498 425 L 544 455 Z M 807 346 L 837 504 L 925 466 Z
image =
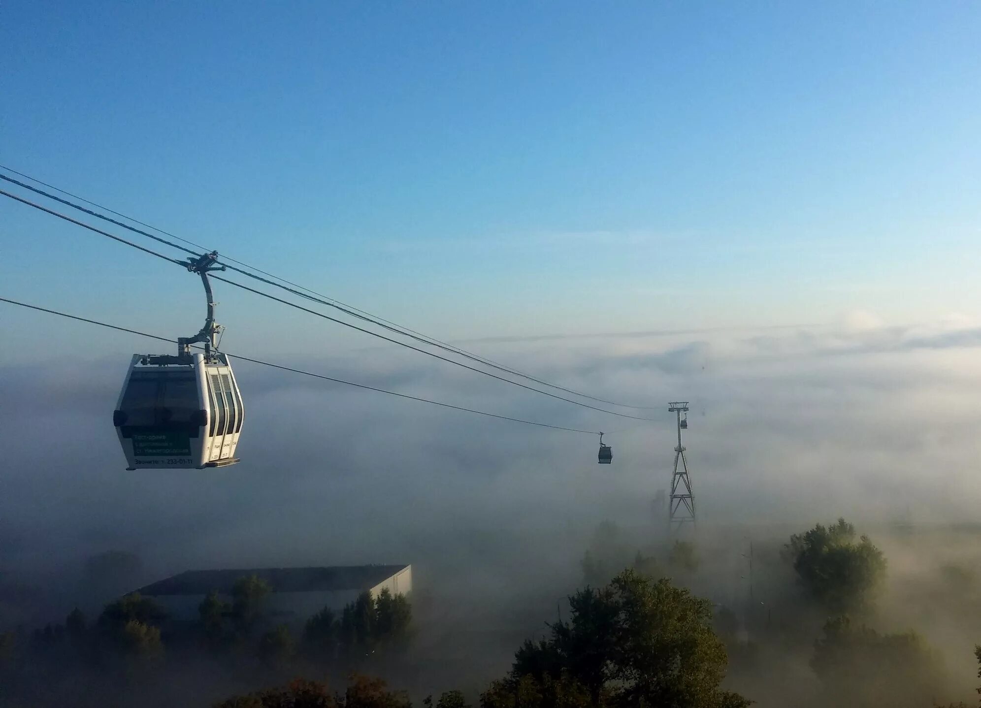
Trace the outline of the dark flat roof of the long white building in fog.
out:
M 322 592 L 367 590 L 407 565 L 334 566 L 331 568 L 254 568 L 248 570 L 185 571 L 163 581 L 140 587 L 144 595 L 204 595 L 212 590 L 232 593 L 232 585 L 243 576 L 259 576 L 273 592 Z

